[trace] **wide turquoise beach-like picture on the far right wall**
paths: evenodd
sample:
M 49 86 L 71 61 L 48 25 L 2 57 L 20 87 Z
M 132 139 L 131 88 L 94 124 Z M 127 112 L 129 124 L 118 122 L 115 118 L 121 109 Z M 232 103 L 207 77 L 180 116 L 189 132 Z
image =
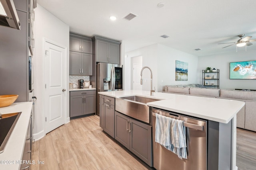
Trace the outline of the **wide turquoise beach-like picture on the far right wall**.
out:
M 256 61 L 230 63 L 230 79 L 256 79 Z

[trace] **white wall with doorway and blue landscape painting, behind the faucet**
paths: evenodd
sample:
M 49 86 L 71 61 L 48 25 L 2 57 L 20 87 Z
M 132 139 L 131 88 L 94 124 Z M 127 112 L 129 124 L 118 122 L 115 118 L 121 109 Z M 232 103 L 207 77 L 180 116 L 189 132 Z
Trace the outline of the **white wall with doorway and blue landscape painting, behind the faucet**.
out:
M 200 78 L 197 78 L 197 56 L 190 55 L 161 44 L 154 44 L 142 47 L 140 49 L 130 51 L 125 55 L 128 56 L 127 58 L 125 58 L 125 79 L 128 81 L 125 82 L 125 86 L 127 87 L 127 89 L 130 89 L 128 87 L 130 87 L 131 81 L 129 79 L 131 78 L 131 57 L 140 55 L 142 55 L 142 66 L 149 66 L 152 69 L 154 80 L 153 88 L 155 87 L 156 91 L 158 92 L 162 92 L 164 90 L 165 85 L 200 83 L 198 82 Z M 188 81 L 175 81 L 176 60 L 188 63 Z M 143 78 L 150 78 L 150 72 L 146 69 L 143 71 Z M 142 86 L 142 90 L 150 90 L 150 80 L 146 80 L 146 83 L 144 83 Z

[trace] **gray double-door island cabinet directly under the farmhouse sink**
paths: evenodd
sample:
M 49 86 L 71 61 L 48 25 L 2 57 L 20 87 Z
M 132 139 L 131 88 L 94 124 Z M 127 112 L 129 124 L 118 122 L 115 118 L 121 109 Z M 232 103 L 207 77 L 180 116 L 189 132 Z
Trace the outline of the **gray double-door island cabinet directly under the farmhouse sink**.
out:
M 115 111 L 115 139 L 152 166 L 152 127 Z

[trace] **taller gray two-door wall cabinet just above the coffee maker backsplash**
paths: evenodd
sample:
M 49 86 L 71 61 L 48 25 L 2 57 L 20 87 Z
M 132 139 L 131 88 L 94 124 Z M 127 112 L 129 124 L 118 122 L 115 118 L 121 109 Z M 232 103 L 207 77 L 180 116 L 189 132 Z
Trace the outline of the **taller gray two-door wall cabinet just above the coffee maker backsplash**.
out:
M 69 74 L 92 76 L 92 54 L 70 51 Z

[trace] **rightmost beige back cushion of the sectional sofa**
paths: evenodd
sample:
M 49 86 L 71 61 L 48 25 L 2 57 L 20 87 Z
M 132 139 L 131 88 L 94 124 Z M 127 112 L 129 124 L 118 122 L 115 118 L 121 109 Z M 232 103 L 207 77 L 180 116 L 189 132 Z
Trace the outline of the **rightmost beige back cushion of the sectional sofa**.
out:
M 220 89 L 220 97 L 242 100 L 256 100 L 256 92 Z

